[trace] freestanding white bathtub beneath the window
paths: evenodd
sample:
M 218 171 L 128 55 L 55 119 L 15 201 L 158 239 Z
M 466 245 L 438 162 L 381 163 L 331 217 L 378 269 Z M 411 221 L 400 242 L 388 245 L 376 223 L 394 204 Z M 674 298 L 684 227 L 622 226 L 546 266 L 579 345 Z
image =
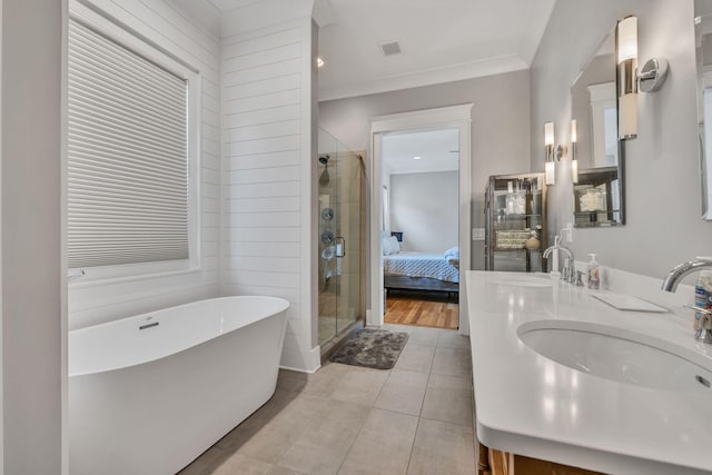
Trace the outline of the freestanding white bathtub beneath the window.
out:
M 172 475 L 274 394 L 289 303 L 215 298 L 69 333 L 71 475 Z

